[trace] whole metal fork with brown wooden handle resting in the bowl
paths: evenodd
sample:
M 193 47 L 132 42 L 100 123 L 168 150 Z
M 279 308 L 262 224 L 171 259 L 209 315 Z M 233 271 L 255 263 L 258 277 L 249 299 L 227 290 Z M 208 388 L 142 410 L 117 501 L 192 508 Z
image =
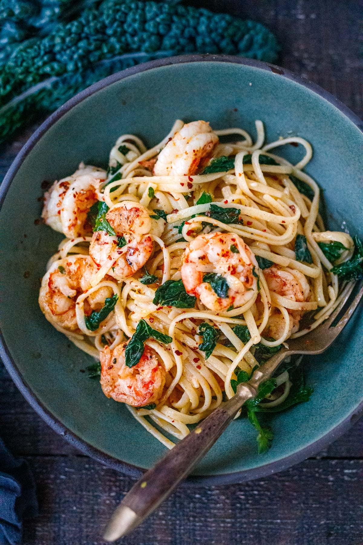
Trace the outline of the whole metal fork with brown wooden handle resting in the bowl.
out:
M 339 322 L 333 326 L 355 285 L 355 282 L 350 282 L 344 286 L 339 295 L 339 305 L 325 322 L 304 337 L 288 340 L 288 348 L 281 348 L 254 372 L 247 383 L 239 384 L 234 397 L 214 410 L 187 437 L 167 452 L 152 469 L 140 477 L 114 511 L 104 531 L 103 537 L 106 541 L 115 541 L 128 534 L 168 498 L 177 485 L 192 471 L 194 465 L 210 450 L 242 405 L 257 395 L 259 385 L 272 376 L 287 356 L 321 354 L 335 341 L 362 298 L 363 282 L 360 282 L 354 300 Z

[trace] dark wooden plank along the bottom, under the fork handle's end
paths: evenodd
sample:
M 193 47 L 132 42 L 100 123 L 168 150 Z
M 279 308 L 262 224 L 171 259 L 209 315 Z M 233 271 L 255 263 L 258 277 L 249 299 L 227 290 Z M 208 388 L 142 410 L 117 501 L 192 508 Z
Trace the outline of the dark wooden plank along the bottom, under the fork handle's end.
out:
M 24 545 L 100 545 L 133 481 L 87 458 L 29 459 L 40 516 Z M 180 488 L 123 545 L 361 545 L 363 461 L 316 461 L 269 479 Z

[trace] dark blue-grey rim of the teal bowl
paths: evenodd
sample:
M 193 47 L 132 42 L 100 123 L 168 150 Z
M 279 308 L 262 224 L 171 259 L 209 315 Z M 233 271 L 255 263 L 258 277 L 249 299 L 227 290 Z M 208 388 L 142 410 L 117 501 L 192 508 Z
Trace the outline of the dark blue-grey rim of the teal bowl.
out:
M 232 55 L 214 55 L 214 54 L 188 54 L 181 55 L 177 57 L 167 57 L 163 59 L 151 60 L 150 62 L 138 64 L 116 72 L 99 82 L 94 83 L 87 89 L 84 89 L 80 93 L 73 96 L 70 100 L 65 102 L 63 106 L 60 106 L 58 110 L 52 113 L 45 121 L 42 123 L 39 128 L 30 136 L 29 140 L 24 144 L 20 152 L 17 154 L 13 163 L 11 164 L 7 174 L 2 181 L 0 186 L 0 210 L 4 203 L 4 199 L 7 195 L 8 189 L 11 182 L 13 181 L 17 171 L 22 165 L 24 159 L 34 148 L 35 144 L 40 140 L 40 138 L 45 134 L 45 132 L 51 128 L 51 126 L 58 121 L 65 113 L 69 112 L 73 106 L 82 102 L 82 100 L 88 98 L 88 96 L 97 93 L 100 89 L 108 87 L 110 84 L 117 81 L 123 80 L 134 74 L 139 74 L 147 70 L 152 70 L 153 68 L 159 68 L 160 66 L 169 66 L 173 64 L 184 64 L 184 63 L 193 63 L 193 62 L 225 62 L 231 64 L 243 64 L 246 66 L 253 66 L 254 68 L 259 68 L 261 70 L 266 70 L 268 72 L 273 72 L 278 76 L 292 80 L 300 85 L 310 89 L 313 93 L 318 94 L 323 99 L 327 100 L 335 106 L 340 112 L 342 112 L 360 131 L 363 132 L 363 122 L 356 116 L 347 106 L 345 106 L 340 100 L 336 99 L 335 96 L 328 93 L 328 91 L 322 89 L 317 84 L 312 83 L 305 78 L 293 74 L 290 70 L 281 68 L 275 64 L 264 63 L 260 60 L 248 59 L 244 57 L 232 56 Z M 137 467 L 136 465 L 120 461 L 119 459 L 107 455 L 101 450 L 97 449 L 93 445 L 87 443 L 83 439 L 79 438 L 75 433 L 71 432 L 66 426 L 63 425 L 58 419 L 56 419 L 50 411 L 46 409 L 44 404 L 40 399 L 32 392 L 30 386 L 23 379 L 19 369 L 17 368 L 15 361 L 11 357 L 10 350 L 5 343 L 2 332 L 0 331 L 0 358 L 2 359 L 5 367 L 7 368 L 11 378 L 13 379 L 15 385 L 20 390 L 22 395 L 26 398 L 28 403 L 33 407 L 36 413 L 58 434 L 63 435 L 63 437 L 78 450 L 83 452 L 85 455 L 90 456 L 91 458 L 96 459 L 102 464 L 125 473 L 131 477 L 140 477 L 144 473 L 144 469 Z M 290 468 L 292 465 L 302 462 L 304 459 L 315 455 L 317 452 L 323 450 L 335 439 L 340 437 L 344 432 L 346 432 L 352 425 L 363 415 L 363 399 L 343 421 L 341 421 L 337 426 L 332 428 L 327 432 L 323 437 L 313 441 L 310 445 L 307 445 L 303 449 L 300 449 L 297 452 L 294 452 L 290 456 L 286 456 L 274 462 L 261 465 L 257 468 L 251 468 L 243 471 L 236 471 L 235 473 L 227 473 L 220 475 L 198 475 L 198 476 L 189 476 L 181 486 L 211 486 L 211 485 L 229 485 L 232 483 L 244 482 L 253 479 L 261 479 L 268 475 L 277 473 L 278 471 L 285 470 Z

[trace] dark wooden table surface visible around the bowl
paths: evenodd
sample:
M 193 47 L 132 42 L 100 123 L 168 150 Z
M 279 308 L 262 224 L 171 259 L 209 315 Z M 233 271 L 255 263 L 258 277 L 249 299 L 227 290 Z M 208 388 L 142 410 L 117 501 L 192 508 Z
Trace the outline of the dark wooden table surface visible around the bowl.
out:
M 280 65 L 318 83 L 362 117 L 361 0 L 204 0 L 203 5 L 265 23 L 282 45 Z M 1 176 L 20 147 L 16 142 L 1 149 Z M 1 364 L 0 433 L 14 454 L 27 459 L 38 487 L 40 514 L 26 523 L 23 543 L 103 543 L 102 528 L 133 480 L 53 432 Z M 359 421 L 318 456 L 266 479 L 180 488 L 122 543 L 362 545 L 362 439 Z

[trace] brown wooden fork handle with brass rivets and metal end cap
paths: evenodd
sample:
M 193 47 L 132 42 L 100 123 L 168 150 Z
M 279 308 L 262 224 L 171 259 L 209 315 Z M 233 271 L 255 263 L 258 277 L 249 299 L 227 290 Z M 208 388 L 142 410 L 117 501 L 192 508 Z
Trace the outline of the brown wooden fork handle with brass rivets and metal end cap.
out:
M 255 395 L 256 390 L 250 384 L 240 386 L 236 396 L 220 405 L 159 460 L 155 467 L 146 471 L 113 513 L 104 532 L 104 539 L 114 541 L 143 522 L 192 471 L 244 402 Z

